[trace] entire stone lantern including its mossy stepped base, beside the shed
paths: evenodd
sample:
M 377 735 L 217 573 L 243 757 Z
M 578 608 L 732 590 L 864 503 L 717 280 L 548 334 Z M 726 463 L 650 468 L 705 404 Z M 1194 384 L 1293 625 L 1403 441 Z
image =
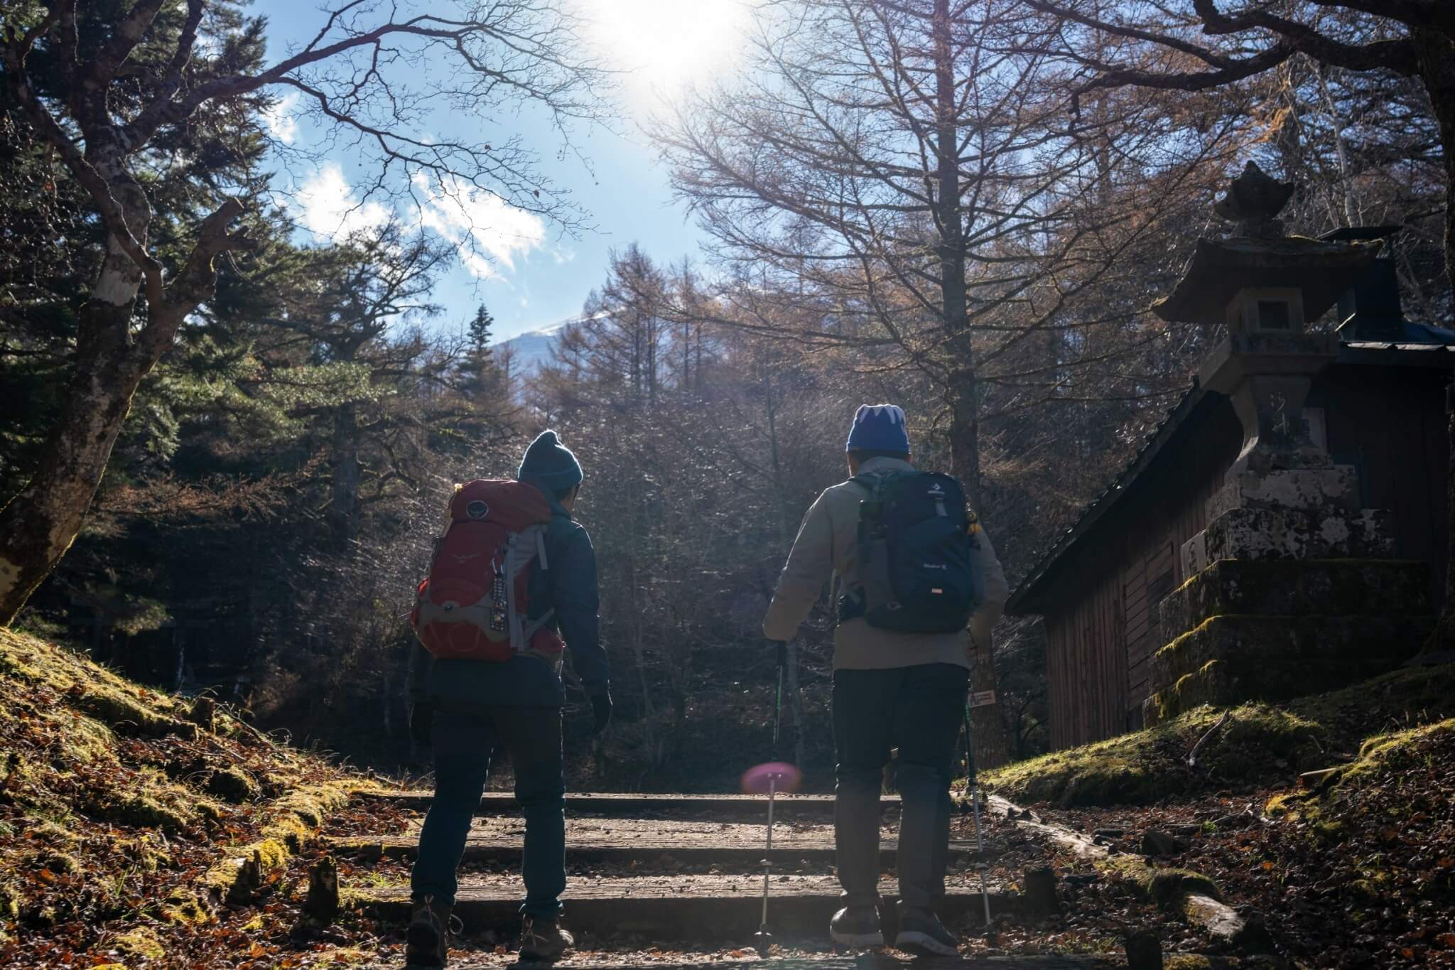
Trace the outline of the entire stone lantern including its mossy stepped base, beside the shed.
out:
M 1154 307 L 1227 326 L 1199 382 L 1228 397 L 1243 445 L 1181 547 L 1184 583 L 1157 605 L 1165 646 L 1149 657 L 1147 726 L 1205 702 L 1298 697 L 1311 669 L 1382 670 L 1423 636 L 1411 617 L 1429 611 L 1424 564 L 1394 560 L 1388 513 L 1360 508 L 1355 468 L 1334 464 L 1323 412 L 1307 406 L 1340 352 L 1337 333 L 1310 324 L 1369 275 L 1382 241 L 1285 236 L 1292 191 L 1248 163 L 1216 209 L 1235 234 L 1199 240 Z

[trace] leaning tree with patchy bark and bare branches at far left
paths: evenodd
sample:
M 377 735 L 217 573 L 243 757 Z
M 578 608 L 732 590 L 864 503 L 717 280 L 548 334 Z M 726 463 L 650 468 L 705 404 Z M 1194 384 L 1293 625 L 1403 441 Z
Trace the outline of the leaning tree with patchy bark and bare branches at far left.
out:
M 579 212 L 519 137 L 435 138 L 422 125 L 438 108 L 489 128 L 521 105 L 549 113 L 563 135 L 597 119 L 611 79 L 583 54 L 578 26 L 551 0 L 418 10 L 339 0 L 311 38 L 266 63 L 263 20 L 242 19 L 228 0 L 6 6 L 0 83 L 84 189 L 105 256 L 79 313 L 64 406 L 28 483 L 0 510 L 0 624 L 74 540 L 138 384 L 212 297 L 218 257 L 249 244 L 234 227 L 259 186 L 204 182 L 191 205 L 159 209 L 154 179 L 176 145 L 196 129 L 253 127 L 269 92 L 291 92 L 335 144 L 372 166 L 370 196 L 493 195 L 570 228 Z M 164 236 L 178 239 L 163 246 Z

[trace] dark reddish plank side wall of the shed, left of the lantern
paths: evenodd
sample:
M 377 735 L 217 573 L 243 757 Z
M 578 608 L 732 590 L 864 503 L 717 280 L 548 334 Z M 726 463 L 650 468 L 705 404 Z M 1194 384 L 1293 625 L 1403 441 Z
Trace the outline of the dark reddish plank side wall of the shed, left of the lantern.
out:
M 1053 749 L 1141 726 L 1148 659 L 1163 646 L 1157 602 L 1186 580 L 1179 550 L 1206 525 L 1206 500 L 1243 444 L 1232 406 L 1209 398 L 1056 583 L 1045 614 Z

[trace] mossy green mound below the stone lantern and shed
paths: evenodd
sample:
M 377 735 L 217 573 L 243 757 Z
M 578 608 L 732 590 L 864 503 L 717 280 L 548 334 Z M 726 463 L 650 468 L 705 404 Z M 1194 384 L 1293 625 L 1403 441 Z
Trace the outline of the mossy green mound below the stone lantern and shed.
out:
M 1222 717 L 1199 753 L 1187 753 Z M 1395 670 L 1289 704 L 1199 707 L 1165 724 L 985 772 L 1014 801 L 1151 804 L 1209 785 L 1259 787 L 1353 756 L 1371 734 L 1455 716 L 1455 665 Z

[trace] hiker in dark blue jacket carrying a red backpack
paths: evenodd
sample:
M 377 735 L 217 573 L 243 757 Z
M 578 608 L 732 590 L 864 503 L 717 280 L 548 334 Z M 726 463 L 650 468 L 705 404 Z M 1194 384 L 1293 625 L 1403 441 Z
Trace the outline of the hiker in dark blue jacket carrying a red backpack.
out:
M 565 647 L 595 730 L 611 720 L 597 634 L 597 557 L 572 519 L 582 477 L 576 457 L 546 430 L 525 449 L 517 480 L 457 486 L 419 586 L 409 724 L 432 752 L 435 795 L 410 875 L 415 913 L 404 960 L 412 967 L 445 966 L 455 871 L 499 749 L 509 755 L 525 814 L 519 957 L 551 961 L 573 942 L 560 926 Z

